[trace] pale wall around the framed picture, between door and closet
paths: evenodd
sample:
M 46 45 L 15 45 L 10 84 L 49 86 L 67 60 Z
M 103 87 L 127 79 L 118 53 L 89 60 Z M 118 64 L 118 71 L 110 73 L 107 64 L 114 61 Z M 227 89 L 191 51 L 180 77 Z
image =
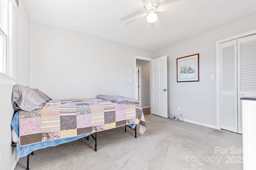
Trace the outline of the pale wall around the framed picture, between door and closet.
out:
M 180 40 L 155 51 L 168 55 L 168 114 L 216 127 L 216 41 L 256 29 L 256 13 Z M 199 82 L 177 82 L 176 59 L 199 53 Z M 180 111 L 177 111 L 180 107 Z

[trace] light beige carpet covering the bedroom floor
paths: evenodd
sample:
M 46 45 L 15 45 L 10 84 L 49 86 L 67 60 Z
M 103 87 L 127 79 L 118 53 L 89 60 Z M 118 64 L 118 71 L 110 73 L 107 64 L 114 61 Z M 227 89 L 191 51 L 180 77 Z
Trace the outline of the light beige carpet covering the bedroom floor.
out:
M 119 127 L 97 133 L 94 140 L 36 150 L 30 170 L 239 170 L 242 135 L 187 122 L 146 115 L 144 135 Z M 15 170 L 26 169 L 26 156 Z

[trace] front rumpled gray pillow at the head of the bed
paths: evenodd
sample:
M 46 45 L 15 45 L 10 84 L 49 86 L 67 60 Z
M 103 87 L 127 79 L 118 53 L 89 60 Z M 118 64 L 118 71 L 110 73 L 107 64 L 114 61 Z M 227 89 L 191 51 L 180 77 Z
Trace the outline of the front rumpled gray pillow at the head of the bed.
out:
M 45 102 L 46 100 L 28 87 L 14 85 L 12 88 L 12 107 L 14 110 L 33 111 L 41 109 Z

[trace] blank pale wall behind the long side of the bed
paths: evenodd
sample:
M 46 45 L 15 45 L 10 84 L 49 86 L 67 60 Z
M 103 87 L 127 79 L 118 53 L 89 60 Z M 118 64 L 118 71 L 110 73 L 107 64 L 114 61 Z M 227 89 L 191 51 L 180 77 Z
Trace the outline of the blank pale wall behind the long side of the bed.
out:
M 30 33 L 31 87 L 53 99 L 134 98 L 134 56 L 153 58 L 149 50 L 40 23 Z

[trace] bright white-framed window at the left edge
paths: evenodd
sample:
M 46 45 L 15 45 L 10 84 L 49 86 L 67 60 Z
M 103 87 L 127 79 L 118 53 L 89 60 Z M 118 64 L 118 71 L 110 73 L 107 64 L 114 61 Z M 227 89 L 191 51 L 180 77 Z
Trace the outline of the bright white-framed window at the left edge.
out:
M 14 78 L 13 74 L 13 17 L 9 0 L 0 0 L 0 76 Z

